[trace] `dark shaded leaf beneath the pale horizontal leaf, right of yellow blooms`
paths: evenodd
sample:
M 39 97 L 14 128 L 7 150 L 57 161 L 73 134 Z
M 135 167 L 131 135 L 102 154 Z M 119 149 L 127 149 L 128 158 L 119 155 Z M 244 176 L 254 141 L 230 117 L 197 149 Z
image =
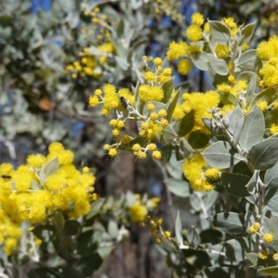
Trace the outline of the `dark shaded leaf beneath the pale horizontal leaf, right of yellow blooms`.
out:
M 244 174 L 232 174 L 232 173 L 222 173 L 221 181 L 224 188 L 236 197 L 247 197 L 250 195 L 246 189 L 247 183 L 250 181 L 250 177 Z

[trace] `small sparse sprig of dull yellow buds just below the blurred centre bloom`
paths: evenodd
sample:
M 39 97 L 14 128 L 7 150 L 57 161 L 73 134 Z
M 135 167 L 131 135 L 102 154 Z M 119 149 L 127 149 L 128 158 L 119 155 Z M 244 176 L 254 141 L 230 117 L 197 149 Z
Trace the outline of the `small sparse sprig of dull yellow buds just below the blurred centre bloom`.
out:
M 162 243 L 163 240 L 167 240 L 171 237 L 170 231 L 163 231 L 162 228 L 163 219 L 159 218 L 154 220 L 150 215 L 145 217 L 145 221 L 141 223 L 142 227 L 149 227 L 150 234 L 156 238 L 156 243 Z

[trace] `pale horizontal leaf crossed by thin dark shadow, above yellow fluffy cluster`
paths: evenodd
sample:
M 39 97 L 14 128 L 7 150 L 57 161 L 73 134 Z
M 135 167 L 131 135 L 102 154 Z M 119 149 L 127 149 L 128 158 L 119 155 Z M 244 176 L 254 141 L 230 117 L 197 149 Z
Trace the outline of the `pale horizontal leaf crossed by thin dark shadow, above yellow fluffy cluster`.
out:
M 205 161 L 218 169 L 225 169 L 238 163 L 241 158 L 229 142 L 219 141 L 207 147 L 202 156 Z

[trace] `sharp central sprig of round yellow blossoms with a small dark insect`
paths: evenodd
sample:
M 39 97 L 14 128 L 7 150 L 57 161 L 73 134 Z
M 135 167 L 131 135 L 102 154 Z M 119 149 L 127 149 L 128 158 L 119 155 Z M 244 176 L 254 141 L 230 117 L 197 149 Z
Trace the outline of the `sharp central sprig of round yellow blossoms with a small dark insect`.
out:
M 165 95 L 163 84 L 172 78 L 172 69 L 161 67 L 161 58 L 152 58 L 144 56 L 142 58 L 145 64 L 145 84 L 138 85 L 138 98 L 142 104 L 146 104 L 146 113 L 141 115 L 135 107 L 135 95 L 128 88 L 116 90 L 114 85 L 106 84 L 102 89 L 95 90 L 95 94 L 90 96 L 89 104 L 95 107 L 103 104 L 101 109 L 102 115 L 108 115 L 112 111 L 116 111 L 117 119 L 110 121 L 113 127 L 112 134 L 116 138 L 114 145 L 104 145 L 104 149 L 108 151 L 109 156 L 117 156 L 117 148 L 121 145 L 129 144 L 131 136 L 124 134 L 121 137 L 121 130 L 124 129 L 124 122 L 127 119 L 138 120 L 140 122 L 139 135 L 145 138 L 143 144 L 134 144 L 131 146 L 133 154 L 140 159 L 147 157 L 146 152 L 152 152 L 155 159 L 161 158 L 161 152 L 156 149 L 154 140 L 163 133 L 163 130 L 169 125 L 167 111 L 164 108 L 159 110 L 149 101 L 161 101 Z M 154 69 L 150 67 L 150 63 L 154 64 Z M 149 102 L 149 103 L 148 103 Z

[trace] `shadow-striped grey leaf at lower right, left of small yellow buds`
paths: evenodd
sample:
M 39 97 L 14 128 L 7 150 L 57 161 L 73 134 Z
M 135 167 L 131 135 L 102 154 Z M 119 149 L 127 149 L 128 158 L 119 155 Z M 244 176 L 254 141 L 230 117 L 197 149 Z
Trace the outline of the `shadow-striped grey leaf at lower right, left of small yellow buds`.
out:
M 238 213 L 218 213 L 208 217 L 213 226 L 228 234 L 241 234 L 245 232 L 244 218 Z

